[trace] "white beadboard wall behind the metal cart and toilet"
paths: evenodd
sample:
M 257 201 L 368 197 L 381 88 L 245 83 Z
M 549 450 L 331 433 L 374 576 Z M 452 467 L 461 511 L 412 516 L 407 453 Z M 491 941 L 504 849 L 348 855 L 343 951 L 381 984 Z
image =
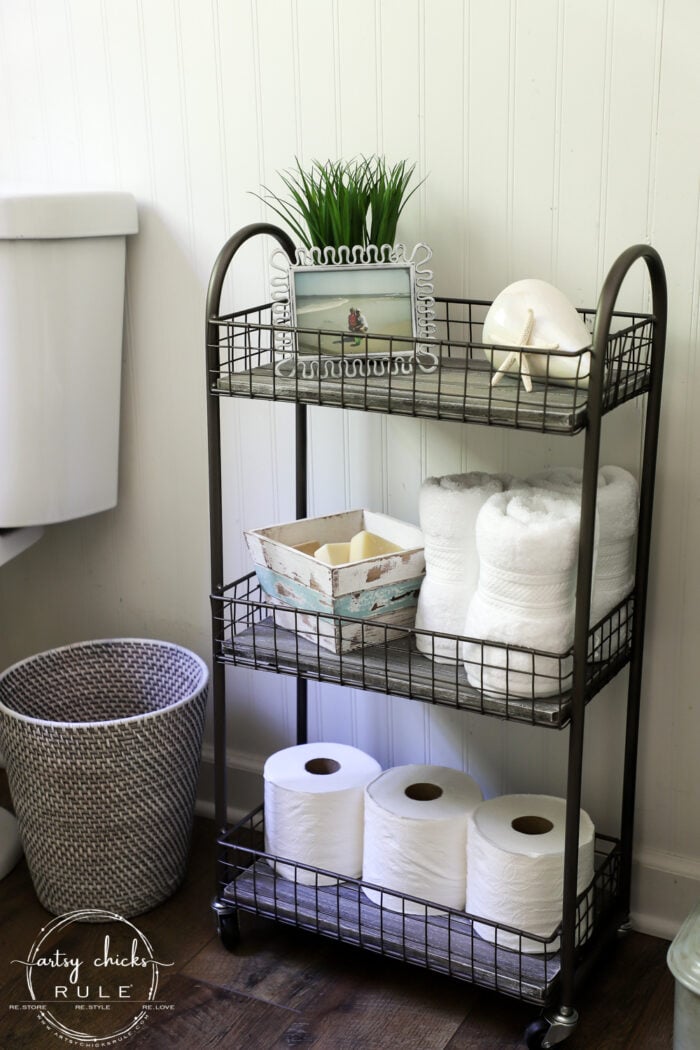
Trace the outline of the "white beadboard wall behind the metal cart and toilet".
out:
M 119 506 L 49 528 L 0 570 L 0 667 L 101 636 L 210 653 L 206 287 L 227 237 L 273 218 L 251 191 L 279 185 L 295 156 L 415 160 L 427 177 L 399 233 L 432 247 L 443 294 L 491 297 L 539 276 L 593 304 L 619 252 L 650 242 L 667 270 L 670 330 L 635 919 L 672 936 L 700 895 L 698 39 L 695 0 L 0 0 L 2 182 L 128 190 L 141 216 L 128 246 Z M 267 296 L 269 250 L 246 249 L 228 301 Z M 622 302 L 649 306 L 642 267 Z M 293 411 L 222 407 L 234 579 L 249 568 L 242 528 L 293 516 Z M 310 416 L 312 513 L 367 505 L 416 521 L 430 474 L 525 474 L 581 450 L 490 428 Z M 603 462 L 638 470 L 641 421 L 634 404 L 607 420 Z M 625 684 L 589 708 L 584 799 L 612 834 Z M 231 801 L 242 808 L 259 796 L 264 755 L 293 742 L 294 681 L 232 670 L 228 695 Z M 385 765 L 462 766 L 487 795 L 565 790 L 567 732 L 331 687 L 312 685 L 310 698 L 313 738 Z M 206 807 L 210 730 L 204 758 Z

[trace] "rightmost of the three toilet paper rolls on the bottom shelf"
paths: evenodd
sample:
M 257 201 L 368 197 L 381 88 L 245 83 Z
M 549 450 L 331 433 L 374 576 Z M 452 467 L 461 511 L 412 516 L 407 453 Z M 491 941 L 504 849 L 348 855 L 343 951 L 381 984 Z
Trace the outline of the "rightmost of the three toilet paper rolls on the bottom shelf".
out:
M 478 806 L 467 839 L 467 907 L 473 916 L 549 937 L 561 921 L 566 802 L 550 795 L 502 795 Z M 595 830 L 582 810 L 578 833 L 577 894 L 593 880 Z M 592 901 L 582 899 L 577 942 L 591 933 Z M 542 953 L 531 938 L 474 923 L 499 947 Z M 559 939 L 548 943 L 556 950 Z

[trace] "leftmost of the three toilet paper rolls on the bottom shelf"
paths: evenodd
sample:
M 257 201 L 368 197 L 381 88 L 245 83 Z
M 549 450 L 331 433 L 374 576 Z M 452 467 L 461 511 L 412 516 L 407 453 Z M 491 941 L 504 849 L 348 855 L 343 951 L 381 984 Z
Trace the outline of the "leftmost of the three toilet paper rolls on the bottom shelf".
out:
M 302 743 L 264 763 L 264 847 L 288 861 L 359 878 L 362 872 L 364 788 L 378 761 L 344 743 Z M 304 885 L 336 882 L 296 864 L 273 864 Z

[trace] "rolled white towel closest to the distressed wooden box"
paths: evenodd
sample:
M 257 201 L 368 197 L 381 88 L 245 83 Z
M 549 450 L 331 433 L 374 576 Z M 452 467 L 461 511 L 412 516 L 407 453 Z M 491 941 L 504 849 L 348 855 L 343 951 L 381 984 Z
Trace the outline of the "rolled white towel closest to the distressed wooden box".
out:
M 417 628 L 462 635 L 479 580 L 476 517 L 489 497 L 501 492 L 508 482 L 500 475 L 479 470 L 423 482 L 419 514 L 425 543 L 425 579 L 418 596 Z M 416 638 L 420 652 L 432 659 L 459 659 L 459 644 L 450 638 L 420 633 Z

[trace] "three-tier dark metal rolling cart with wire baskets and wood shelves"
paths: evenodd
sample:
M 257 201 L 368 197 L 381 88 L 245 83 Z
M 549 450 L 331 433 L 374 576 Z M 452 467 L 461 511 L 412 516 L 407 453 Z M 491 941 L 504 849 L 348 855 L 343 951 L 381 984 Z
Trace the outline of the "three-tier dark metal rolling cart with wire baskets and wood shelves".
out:
M 658 253 L 646 245 L 624 251 L 604 280 L 597 307 L 581 311 L 592 333 L 590 377 L 568 385 L 550 381 L 549 351 L 542 355 L 539 378 L 528 392 L 518 377 L 492 383 L 494 366 L 481 341 L 489 302 L 436 298 L 437 332 L 427 350 L 438 366 L 423 371 L 387 368 L 382 375 L 372 366 L 360 370 L 323 368 L 320 339 L 316 366 L 278 368 L 302 334 L 306 344 L 314 330 L 285 327 L 280 343 L 274 303 L 220 315 L 221 293 L 239 249 L 253 237 L 271 238 L 295 258 L 295 246 L 275 226 L 255 224 L 241 229 L 221 249 L 211 275 L 207 299 L 207 398 L 211 522 L 211 603 L 214 652 L 213 701 L 215 803 L 218 827 L 217 889 L 213 901 L 222 944 L 238 940 L 237 912 L 249 911 L 451 975 L 527 1001 L 540 1013 L 525 1033 L 530 1050 L 551 1047 L 567 1038 L 577 1022 L 576 988 L 610 940 L 628 923 L 632 872 L 632 841 L 639 707 L 642 679 L 644 620 L 654 502 L 656 450 L 666 327 L 666 287 Z M 628 271 L 637 260 L 646 265 L 651 284 L 651 313 L 616 310 Z M 316 333 L 318 335 L 318 333 Z M 405 359 L 405 340 L 399 345 L 385 337 L 385 357 Z M 280 352 L 279 346 L 284 348 Z M 418 351 L 426 349 L 425 341 Z M 341 351 L 342 353 L 342 351 Z M 584 352 L 581 352 L 582 355 Z M 312 358 L 313 358 L 312 353 Z M 294 365 L 294 362 L 292 362 Z M 354 374 L 351 375 L 351 372 Z M 359 372 L 359 374 L 357 374 Z M 593 574 L 593 536 L 602 417 L 634 398 L 646 400 L 643 414 L 643 454 L 634 588 L 602 621 L 589 626 Z M 363 411 L 451 420 L 460 423 L 535 430 L 561 438 L 584 433 L 581 522 L 574 640 L 566 654 L 545 654 L 559 662 L 561 689 L 546 698 L 491 695 L 467 680 L 459 659 L 434 663 L 420 653 L 415 629 L 391 628 L 384 644 L 335 653 L 315 644 L 310 618 L 304 630 L 282 626 L 281 607 L 260 589 L 255 573 L 227 583 L 224 580 L 221 406 L 230 398 L 291 402 L 296 405 L 296 517 L 306 516 L 306 411 L 309 405 L 332 405 Z M 326 617 L 327 618 L 327 617 Z M 342 626 L 343 617 L 335 617 Z M 347 617 L 348 621 L 352 617 Z M 429 632 L 423 632 L 428 634 Z M 455 652 L 463 640 L 454 643 Z M 489 651 L 497 644 L 489 643 Z M 517 653 L 533 660 L 532 650 L 501 646 L 507 662 Z M 488 657 L 482 649 L 484 659 Z M 528 931 L 502 926 L 429 901 L 406 898 L 410 910 L 396 911 L 373 903 L 363 894 L 362 880 L 346 879 L 296 863 L 303 880 L 282 878 L 275 860 L 264 852 L 263 807 L 231 826 L 227 820 L 227 665 L 294 675 L 297 678 L 297 740 L 307 734 L 307 681 L 333 682 L 407 697 L 460 711 L 528 722 L 569 733 L 567 768 L 566 846 L 561 921 L 551 936 L 538 938 L 542 951 L 513 948 Z M 581 768 L 587 705 L 629 665 L 627 730 L 623 744 L 623 788 L 619 827 L 596 836 L 596 869 L 592 883 L 577 894 L 578 815 L 581 805 Z M 507 666 L 501 663 L 500 666 Z M 572 670 L 573 668 L 573 670 Z M 622 748 L 620 749 L 622 750 Z M 288 864 L 295 864 L 289 861 Z M 320 878 L 323 876 L 324 878 Z M 305 883 L 305 884 L 302 884 Z M 330 884 L 327 884 L 330 883 Z M 380 895 L 380 886 L 373 886 Z M 394 901 L 401 897 L 391 890 Z M 381 896 L 380 896 L 381 900 Z M 418 905 L 418 907 L 417 907 Z M 396 907 L 396 904 L 394 904 Z M 418 914 L 415 914 L 418 911 Z M 490 927 L 490 937 L 474 929 Z M 592 932 L 591 932 L 592 931 Z M 505 934 L 508 934 L 506 937 Z M 528 933 L 529 941 L 533 934 Z M 507 942 L 508 946 L 506 946 Z M 531 945 L 530 945 L 531 947 Z

